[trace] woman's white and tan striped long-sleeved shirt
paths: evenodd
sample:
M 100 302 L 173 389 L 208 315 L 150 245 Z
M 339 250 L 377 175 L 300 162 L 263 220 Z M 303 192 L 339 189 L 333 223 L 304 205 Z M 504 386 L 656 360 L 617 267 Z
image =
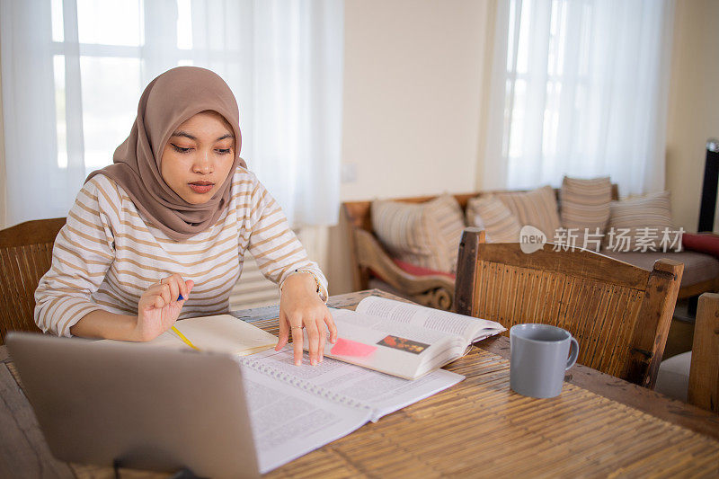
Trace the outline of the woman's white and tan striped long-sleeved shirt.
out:
M 52 266 L 35 291 L 35 323 L 70 336 L 70 327 L 94 310 L 137 315 L 146 289 L 174 273 L 195 283 L 181 319 L 226 313 L 248 250 L 271 281 L 281 285 L 306 269 L 327 296 L 322 271 L 307 258 L 280 205 L 244 168 L 235 171 L 231 200 L 217 223 L 179 242 L 147 221 L 119 184 L 96 175 L 77 194 L 55 240 Z

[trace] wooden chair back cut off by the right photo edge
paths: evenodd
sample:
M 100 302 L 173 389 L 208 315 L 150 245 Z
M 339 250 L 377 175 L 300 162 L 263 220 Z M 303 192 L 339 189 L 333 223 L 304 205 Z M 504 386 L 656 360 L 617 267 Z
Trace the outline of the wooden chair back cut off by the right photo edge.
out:
M 719 295 L 715 293 L 699 297 L 687 399 L 719 413 Z

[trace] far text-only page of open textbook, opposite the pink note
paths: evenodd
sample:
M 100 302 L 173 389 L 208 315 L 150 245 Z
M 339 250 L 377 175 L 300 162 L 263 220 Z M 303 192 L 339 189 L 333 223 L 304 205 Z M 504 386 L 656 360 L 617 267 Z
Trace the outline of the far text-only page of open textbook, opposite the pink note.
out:
M 502 333 L 502 324 L 466 315 L 457 315 L 431 307 L 413 305 L 386 297 L 369 296 L 359 301 L 356 311 L 425 330 L 456 334 L 467 343 Z

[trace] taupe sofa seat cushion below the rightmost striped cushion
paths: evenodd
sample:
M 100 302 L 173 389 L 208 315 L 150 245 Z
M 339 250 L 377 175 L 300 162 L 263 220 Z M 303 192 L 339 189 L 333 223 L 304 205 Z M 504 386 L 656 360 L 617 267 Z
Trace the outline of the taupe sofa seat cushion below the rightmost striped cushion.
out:
M 652 271 L 654 262 L 661 258 L 684 263 L 684 274 L 681 276 L 681 287 L 692 286 L 702 281 L 715 279 L 719 276 L 719 261 L 714 257 L 705 253 L 697 253 L 693 251 L 683 251 L 679 253 L 660 253 L 660 252 L 613 252 L 611 250 L 603 250 L 601 252 L 607 256 L 615 258 L 619 261 L 634 264 L 644 270 Z

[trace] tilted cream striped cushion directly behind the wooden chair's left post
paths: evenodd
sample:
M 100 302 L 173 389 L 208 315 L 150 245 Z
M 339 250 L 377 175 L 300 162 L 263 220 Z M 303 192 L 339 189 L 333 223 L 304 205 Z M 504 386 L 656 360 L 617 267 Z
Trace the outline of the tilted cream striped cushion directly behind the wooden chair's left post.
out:
M 467 202 L 466 224 L 484 228 L 487 243 L 519 242 L 519 220 L 510 208 L 493 195 L 473 198 Z

